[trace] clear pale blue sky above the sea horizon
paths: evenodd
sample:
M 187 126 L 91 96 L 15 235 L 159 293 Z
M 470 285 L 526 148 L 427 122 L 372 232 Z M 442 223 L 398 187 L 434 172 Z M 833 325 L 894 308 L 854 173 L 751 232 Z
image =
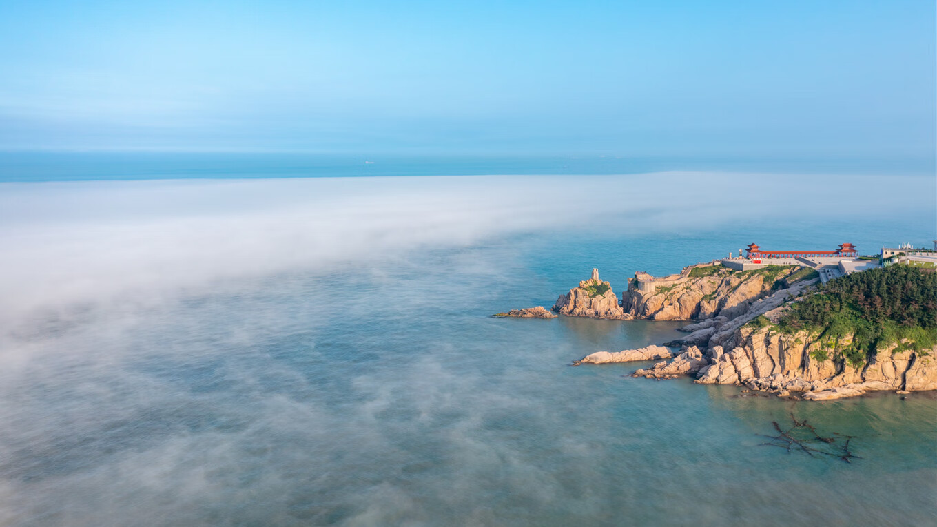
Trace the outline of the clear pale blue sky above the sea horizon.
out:
M 0 149 L 932 158 L 934 2 L 0 0 Z

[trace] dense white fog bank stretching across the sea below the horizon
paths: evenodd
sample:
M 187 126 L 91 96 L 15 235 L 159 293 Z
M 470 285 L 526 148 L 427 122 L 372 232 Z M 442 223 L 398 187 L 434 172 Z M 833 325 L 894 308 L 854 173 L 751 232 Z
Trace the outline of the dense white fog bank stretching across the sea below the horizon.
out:
M 0 184 L 0 321 L 491 236 L 934 208 L 928 177 L 650 173 Z M 14 323 L 15 324 L 15 323 Z

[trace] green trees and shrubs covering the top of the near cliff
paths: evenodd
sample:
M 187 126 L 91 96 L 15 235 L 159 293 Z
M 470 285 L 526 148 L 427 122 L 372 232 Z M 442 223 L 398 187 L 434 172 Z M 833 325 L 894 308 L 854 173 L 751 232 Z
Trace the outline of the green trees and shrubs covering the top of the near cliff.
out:
M 930 349 L 937 344 L 937 273 L 893 265 L 830 280 L 787 309 L 779 326 L 819 333 L 815 358 L 832 352 L 854 365 L 902 340 L 900 350 Z

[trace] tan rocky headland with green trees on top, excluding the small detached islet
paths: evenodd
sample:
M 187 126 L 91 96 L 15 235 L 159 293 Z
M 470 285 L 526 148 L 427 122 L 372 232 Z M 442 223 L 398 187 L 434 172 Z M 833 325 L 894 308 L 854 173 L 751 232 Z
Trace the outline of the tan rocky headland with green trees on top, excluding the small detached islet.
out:
M 739 384 L 813 400 L 937 389 L 937 275 L 880 269 L 818 289 L 817 280 L 800 267 L 748 272 L 709 267 L 693 266 L 664 279 L 637 273 L 629 280 L 625 314 L 702 319 L 682 328 L 687 337 L 666 343 L 680 348 L 672 360 L 638 369 L 634 376 L 691 376 L 699 384 Z M 901 284 L 900 273 L 905 280 L 912 273 L 914 286 Z M 903 293 L 894 298 L 870 293 L 884 287 Z M 910 307 L 881 308 L 900 299 Z M 599 352 L 573 365 L 655 360 L 647 350 L 664 355 L 658 348 Z

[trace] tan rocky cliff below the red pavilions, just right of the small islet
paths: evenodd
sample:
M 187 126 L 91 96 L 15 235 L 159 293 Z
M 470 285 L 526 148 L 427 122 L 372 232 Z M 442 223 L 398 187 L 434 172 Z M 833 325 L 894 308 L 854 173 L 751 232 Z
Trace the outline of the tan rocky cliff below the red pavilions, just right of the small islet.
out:
M 701 264 L 660 278 L 638 272 L 628 280 L 621 306 L 634 318 L 648 320 L 699 320 L 717 315 L 732 319 L 745 313 L 753 302 L 787 285 L 786 279 L 798 269 L 768 266 L 733 271 L 720 264 Z

